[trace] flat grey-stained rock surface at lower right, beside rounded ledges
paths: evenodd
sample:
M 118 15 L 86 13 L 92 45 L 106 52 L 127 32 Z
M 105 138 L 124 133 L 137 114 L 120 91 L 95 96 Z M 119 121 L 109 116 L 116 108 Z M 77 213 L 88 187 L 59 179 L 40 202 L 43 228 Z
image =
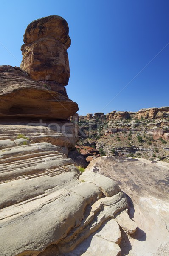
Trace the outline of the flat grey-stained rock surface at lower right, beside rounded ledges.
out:
M 113 178 L 127 194 L 130 218 L 137 223 L 138 230 L 132 239 L 122 235 L 121 255 L 168 256 L 169 163 L 100 157 L 87 169 Z

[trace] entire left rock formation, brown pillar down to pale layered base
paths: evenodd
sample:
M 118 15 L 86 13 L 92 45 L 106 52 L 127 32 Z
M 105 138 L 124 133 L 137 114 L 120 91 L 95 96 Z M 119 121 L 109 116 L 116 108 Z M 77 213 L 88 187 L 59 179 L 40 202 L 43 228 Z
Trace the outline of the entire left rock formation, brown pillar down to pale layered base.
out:
M 24 43 L 21 68 L 0 66 L 0 256 L 101 256 L 104 248 L 117 256 L 121 230 L 137 228 L 126 196 L 67 158 L 77 125 L 65 119 L 78 110 L 65 90 L 68 24 L 55 15 L 35 20 Z M 89 236 L 90 250 L 71 252 Z

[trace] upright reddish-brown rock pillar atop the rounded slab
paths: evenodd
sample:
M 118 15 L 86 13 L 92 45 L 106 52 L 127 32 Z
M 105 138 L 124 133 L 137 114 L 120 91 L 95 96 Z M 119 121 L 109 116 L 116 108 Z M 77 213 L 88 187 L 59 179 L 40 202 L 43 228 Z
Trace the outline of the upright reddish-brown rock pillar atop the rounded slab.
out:
M 21 47 L 23 61 L 20 67 L 36 81 L 55 81 L 68 84 L 70 69 L 67 49 L 70 47 L 68 23 L 52 15 L 34 20 L 28 25 Z

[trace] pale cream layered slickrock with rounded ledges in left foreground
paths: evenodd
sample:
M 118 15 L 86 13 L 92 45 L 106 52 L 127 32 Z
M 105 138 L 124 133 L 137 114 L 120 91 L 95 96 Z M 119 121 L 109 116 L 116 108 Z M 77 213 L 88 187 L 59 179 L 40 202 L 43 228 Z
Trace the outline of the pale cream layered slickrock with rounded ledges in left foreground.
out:
M 80 175 L 73 160 L 51 143 L 1 150 L 0 181 L 1 256 L 67 255 L 110 218 L 111 241 L 101 230 L 96 242 L 104 239 L 112 255 L 118 255 L 118 225 L 135 232 L 119 186 L 93 171 Z

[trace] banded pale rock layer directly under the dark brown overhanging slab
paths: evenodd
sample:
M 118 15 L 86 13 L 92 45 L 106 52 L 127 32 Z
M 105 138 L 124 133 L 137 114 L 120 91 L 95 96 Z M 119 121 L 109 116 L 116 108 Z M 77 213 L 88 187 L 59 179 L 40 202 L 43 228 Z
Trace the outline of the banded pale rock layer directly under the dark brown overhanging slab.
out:
M 20 142 L 18 142 L 17 137 L 20 136 L 24 136 L 33 143 L 52 143 L 62 148 L 66 155 L 68 155 L 69 150 L 75 147 L 78 139 L 76 125 L 68 120 L 60 120 L 59 122 L 49 119 L 0 120 L 0 149 L 18 145 Z

